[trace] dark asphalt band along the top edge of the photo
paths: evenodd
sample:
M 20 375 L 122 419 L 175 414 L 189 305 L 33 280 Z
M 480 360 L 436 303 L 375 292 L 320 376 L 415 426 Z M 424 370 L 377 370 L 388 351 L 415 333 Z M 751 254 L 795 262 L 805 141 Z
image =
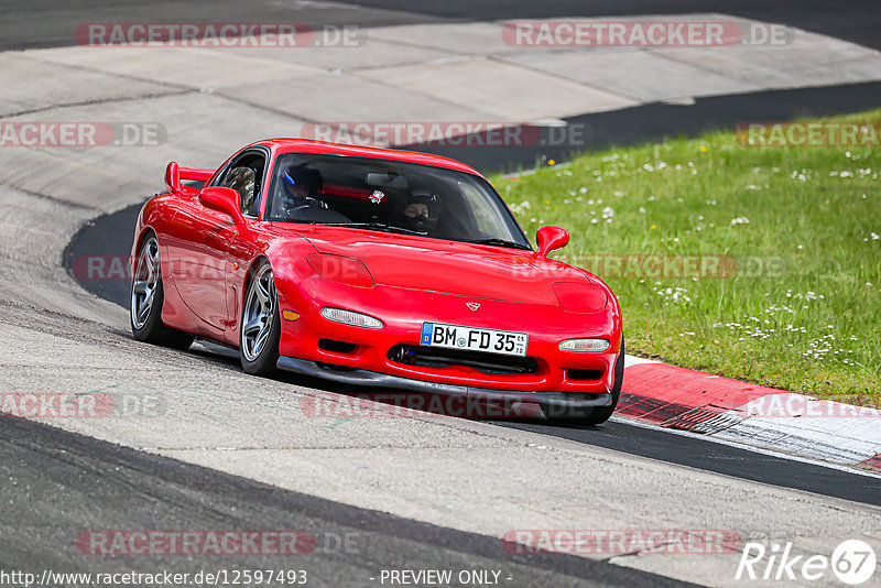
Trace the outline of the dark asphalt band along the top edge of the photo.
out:
M 554 17 L 724 13 L 797 26 L 881 48 L 875 0 L 4 0 L 0 50 L 75 44 L 76 26 L 97 22 L 304 22 L 383 26 Z M 293 14 L 293 17 L 292 17 Z

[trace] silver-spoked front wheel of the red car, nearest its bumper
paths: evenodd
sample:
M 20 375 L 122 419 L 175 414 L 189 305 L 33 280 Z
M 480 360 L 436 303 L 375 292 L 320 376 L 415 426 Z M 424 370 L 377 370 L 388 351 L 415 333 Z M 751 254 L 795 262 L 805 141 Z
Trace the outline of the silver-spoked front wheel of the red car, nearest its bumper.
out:
M 272 266 L 263 261 L 251 272 L 241 309 L 239 357 L 246 372 L 272 375 L 278 371 L 280 314 Z

